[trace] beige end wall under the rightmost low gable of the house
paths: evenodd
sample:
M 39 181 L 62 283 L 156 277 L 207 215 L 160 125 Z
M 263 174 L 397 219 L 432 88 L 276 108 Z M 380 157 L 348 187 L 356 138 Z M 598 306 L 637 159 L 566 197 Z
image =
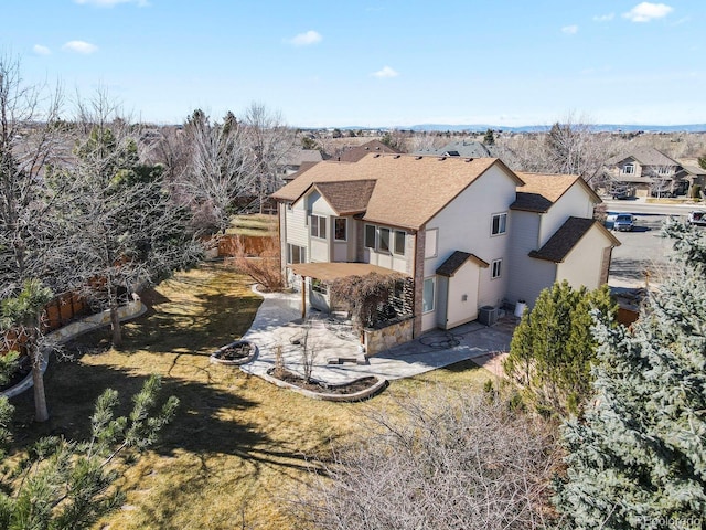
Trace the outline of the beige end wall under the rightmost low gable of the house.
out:
M 592 226 L 578 244 L 557 264 L 557 280 L 566 279 L 574 288 L 585 285 L 596 289 L 601 285 L 603 248 L 610 246 L 600 227 Z

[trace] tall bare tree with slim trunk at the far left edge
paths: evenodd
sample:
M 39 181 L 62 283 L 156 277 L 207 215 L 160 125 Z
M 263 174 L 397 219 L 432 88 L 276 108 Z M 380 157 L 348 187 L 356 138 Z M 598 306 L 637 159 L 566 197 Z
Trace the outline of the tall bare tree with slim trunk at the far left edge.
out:
M 35 418 L 49 418 L 41 367 L 41 303 L 75 279 L 71 226 L 55 215 L 71 200 L 71 182 L 49 183 L 60 140 L 58 88 L 22 82 L 19 60 L 0 56 L 0 298 L 3 330 L 24 337 L 32 361 Z M 44 285 L 42 285 L 44 284 Z M 25 288 L 26 287 L 26 288 Z

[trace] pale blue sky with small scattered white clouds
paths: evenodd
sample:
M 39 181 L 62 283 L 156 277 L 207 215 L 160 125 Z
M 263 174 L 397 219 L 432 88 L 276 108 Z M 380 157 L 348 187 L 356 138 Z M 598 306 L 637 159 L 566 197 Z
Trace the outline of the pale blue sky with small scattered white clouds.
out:
M 664 1 L 3 0 L 0 50 L 157 123 L 703 124 L 706 2 Z

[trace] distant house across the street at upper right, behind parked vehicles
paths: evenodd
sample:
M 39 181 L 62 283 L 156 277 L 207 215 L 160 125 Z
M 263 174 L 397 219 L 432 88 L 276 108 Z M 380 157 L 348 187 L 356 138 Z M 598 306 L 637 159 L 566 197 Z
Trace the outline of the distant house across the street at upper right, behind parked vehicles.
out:
M 684 195 L 689 179 L 680 162 L 653 147 L 641 147 L 606 160 L 606 172 L 614 186 L 629 186 L 638 195 Z

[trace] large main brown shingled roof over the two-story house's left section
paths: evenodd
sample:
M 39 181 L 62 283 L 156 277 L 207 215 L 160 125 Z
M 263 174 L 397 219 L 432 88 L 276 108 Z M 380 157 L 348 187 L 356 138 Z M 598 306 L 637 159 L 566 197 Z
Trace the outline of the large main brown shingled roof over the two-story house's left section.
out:
M 496 158 L 368 155 L 359 162 L 323 161 L 279 189 L 272 197 L 296 201 L 313 183 L 376 180 L 364 220 L 392 226 L 421 229 L 427 221 L 496 166 L 517 184 L 522 180 Z

